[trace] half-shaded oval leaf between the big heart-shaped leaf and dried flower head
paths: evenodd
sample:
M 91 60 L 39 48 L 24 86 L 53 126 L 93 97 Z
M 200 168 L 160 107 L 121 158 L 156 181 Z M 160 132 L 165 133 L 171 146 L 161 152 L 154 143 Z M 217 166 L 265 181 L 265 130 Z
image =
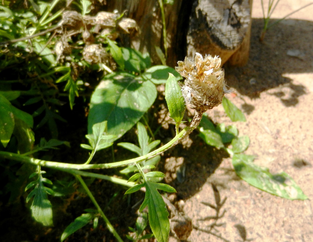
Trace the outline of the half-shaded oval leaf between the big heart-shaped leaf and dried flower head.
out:
M 154 84 L 166 83 L 168 73 L 172 73 L 176 81 L 182 80 L 182 76 L 174 68 L 168 66 L 153 66 L 146 70 L 141 76 L 144 80 L 150 80 Z

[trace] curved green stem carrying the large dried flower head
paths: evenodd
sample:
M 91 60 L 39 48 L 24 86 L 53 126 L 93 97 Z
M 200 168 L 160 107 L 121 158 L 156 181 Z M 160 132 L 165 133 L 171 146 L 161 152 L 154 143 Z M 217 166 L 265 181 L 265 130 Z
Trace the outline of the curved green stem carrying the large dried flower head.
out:
M 167 151 L 168 149 L 177 145 L 180 141 L 182 141 L 188 134 L 190 134 L 199 125 L 201 118 L 202 118 L 202 114 L 203 112 L 199 112 L 196 110 L 195 116 L 193 117 L 189 125 L 186 128 L 184 128 L 178 135 L 176 135 L 170 142 L 168 142 L 164 146 L 156 149 L 155 151 L 151 151 L 150 153 L 144 156 L 140 156 L 137 158 L 126 160 L 126 161 L 118 161 L 118 162 L 105 163 L 105 164 L 69 164 L 69 163 L 34 159 L 31 157 L 22 156 L 19 154 L 6 152 L 6 151 L 0 151 L 0 156 L 9 160 L 31 163 L 33 165 L 41 165 L 41 166 L 47 166 L 51 168 L 77 169 L 77 170 L 108 169 L 108 168 L 114 168 L 114 167 L 119 167 L 119 166 L 132 165 L 132 164 L 136 164 L 137 162 L 144 161 L 154 156 L 160 155 L 164 151 Z

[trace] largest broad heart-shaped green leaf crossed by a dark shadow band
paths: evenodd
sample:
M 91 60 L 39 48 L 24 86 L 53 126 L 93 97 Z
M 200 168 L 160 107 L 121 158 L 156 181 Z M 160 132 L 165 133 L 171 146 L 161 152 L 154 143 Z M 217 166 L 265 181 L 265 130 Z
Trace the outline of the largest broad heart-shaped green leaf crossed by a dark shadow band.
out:
M 156 99 L 151 81 L 139 83 L 135 76 L 117 72 L 106 76 L 92 94 L 88 115 L 88 132 L 95 123 L 108 121 L 108 134 L 115 141 L 134 126 Z

